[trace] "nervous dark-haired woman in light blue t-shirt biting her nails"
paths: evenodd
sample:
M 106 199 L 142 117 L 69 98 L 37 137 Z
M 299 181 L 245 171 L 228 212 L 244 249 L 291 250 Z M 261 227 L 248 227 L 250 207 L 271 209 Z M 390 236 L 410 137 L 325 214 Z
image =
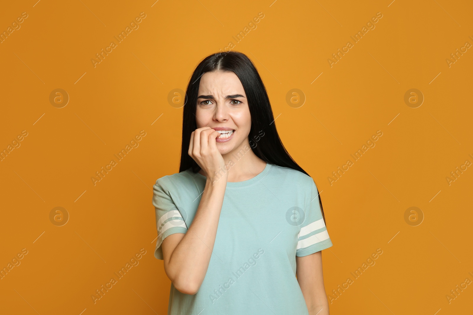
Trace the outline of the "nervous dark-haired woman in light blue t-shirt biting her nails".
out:
M 329 314 L 322 203 L 280 141 L 254 64 L 206 57 L 184 104 L 179 173 L 153 186 L 167 314 Z

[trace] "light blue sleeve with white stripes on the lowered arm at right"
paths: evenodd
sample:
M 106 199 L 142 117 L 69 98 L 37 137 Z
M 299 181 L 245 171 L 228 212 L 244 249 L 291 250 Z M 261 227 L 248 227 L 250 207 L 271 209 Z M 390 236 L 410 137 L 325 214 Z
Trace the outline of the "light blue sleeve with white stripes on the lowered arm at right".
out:
M 312 180 L 310 198 L 304 207 L 304 214 L 305 220 L 298 234 L 296 250 L 296 256 L 298 257 L 314 254 L 333 245 L 322 217 L 314 180 Z

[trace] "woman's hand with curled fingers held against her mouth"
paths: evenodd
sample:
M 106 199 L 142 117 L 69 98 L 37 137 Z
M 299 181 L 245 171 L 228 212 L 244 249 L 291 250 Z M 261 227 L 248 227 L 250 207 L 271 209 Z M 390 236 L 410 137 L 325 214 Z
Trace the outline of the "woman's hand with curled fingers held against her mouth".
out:
M 219 136 L 220 133 L 210 127 L 197 128 L 192 132 L 189 143 L 189 155 L 205 171 L 207 178 L 212 182 L 222 170 L 227 174 L 225 161 L 215 140 Z M 220 178 L 220 175 L 218 177 Z

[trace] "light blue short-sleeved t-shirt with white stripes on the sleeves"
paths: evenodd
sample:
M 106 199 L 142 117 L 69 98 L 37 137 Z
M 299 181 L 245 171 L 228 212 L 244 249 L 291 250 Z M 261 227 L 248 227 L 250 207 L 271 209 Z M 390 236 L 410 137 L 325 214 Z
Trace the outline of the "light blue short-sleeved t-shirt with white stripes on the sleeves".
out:
M 153 186 L 158 241 L 185 233 L 199 206 L 206 177 L 191 169 Z M 199 291 L 171 283 L 168 315 L 308 315 L 296 279 L 296 256 L 332 246 L 314 180 L 267 163 L 252 179 L 227 182 L 209 268 Z

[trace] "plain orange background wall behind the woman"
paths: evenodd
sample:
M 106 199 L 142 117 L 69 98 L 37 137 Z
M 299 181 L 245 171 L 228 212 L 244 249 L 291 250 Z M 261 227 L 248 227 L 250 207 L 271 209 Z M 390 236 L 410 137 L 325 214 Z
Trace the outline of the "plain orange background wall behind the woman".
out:
M 229 42 L 254 61 L 282 142 L 321 193 L 334 244 L 323 251 L 327 295 L 383 250 L 331 314 L 471 313 L 472 284 L 446 298 L 473 281 L 472 167 L 446 179 L 473 162 L 472 49 L 446 62 L 473 44 L 471 1 L 19 2 L 0 10 L 2 32 L 28 15 L 0 43 L 0 149 L 27 132 L 0 162 L 0 266 L 28 253 L 0 280 L 1 313 L 166 314 L 170 281 L 153 256 L 151 198 L 156 179 L 179 166 L 182 108 L 168 94 Z M 139 28 L 94 67 L 140 12 Z M 237 43 L 232 36 L 259 12 Z M 376 27 L 330 67 L 377 12 Z M 70 98 L 62 108 L 50 102 L 57 88 Z M 300 107 L 286 102 L 294 88 Z M 412 88 L 425 98 L 420 107 L 404 102 Z M 141 130 L 139 146 L 94 185 Z M 377 130 L 376 146 L 354 162 Z M 412 206 L 420 225 L 404 219 Z M 53 224 L 55 207 L 69 213 L 66 224 Z M 139 264 L 94 304 L 96 289 L 141 248 Z

